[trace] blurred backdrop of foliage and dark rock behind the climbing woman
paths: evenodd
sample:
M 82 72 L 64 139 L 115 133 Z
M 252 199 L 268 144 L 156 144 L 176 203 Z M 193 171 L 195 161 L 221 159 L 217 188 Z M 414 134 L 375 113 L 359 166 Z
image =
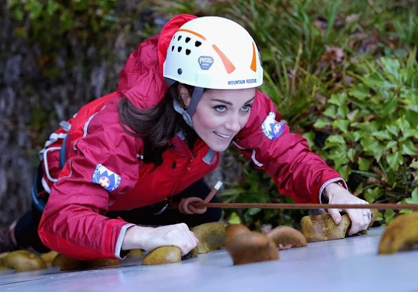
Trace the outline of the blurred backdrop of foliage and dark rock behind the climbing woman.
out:
M 418 203 L 416 0 L 0 0 L 0 225 L 30 207 L 37 152 L 59 122 L 115 91 L 129 54 L 179 13 L 249 30 L 266 70 L 261 91 L 351 192 Z M 216 180 L 226 202 L 292 201 L 232 149 L 207 178 Z M 307 212 L 226 209 L 223 219 L 268 230 L 298 227 Z

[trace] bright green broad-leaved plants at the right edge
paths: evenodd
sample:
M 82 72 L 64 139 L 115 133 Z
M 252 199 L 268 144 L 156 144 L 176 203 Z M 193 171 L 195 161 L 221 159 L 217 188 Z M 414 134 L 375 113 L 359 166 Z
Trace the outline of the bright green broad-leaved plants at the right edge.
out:
M 367 178 L 356 193 L 370 203 L 418 201 L 416 58 L 413 50 L 405 59 L 361 60 L 351 72 L 359 82 L 332 95 L 313 125 L 329 135 L 314 150 L 345 179 L 351 173 Z M 393 215 L 384 213 L 386 223 Z

